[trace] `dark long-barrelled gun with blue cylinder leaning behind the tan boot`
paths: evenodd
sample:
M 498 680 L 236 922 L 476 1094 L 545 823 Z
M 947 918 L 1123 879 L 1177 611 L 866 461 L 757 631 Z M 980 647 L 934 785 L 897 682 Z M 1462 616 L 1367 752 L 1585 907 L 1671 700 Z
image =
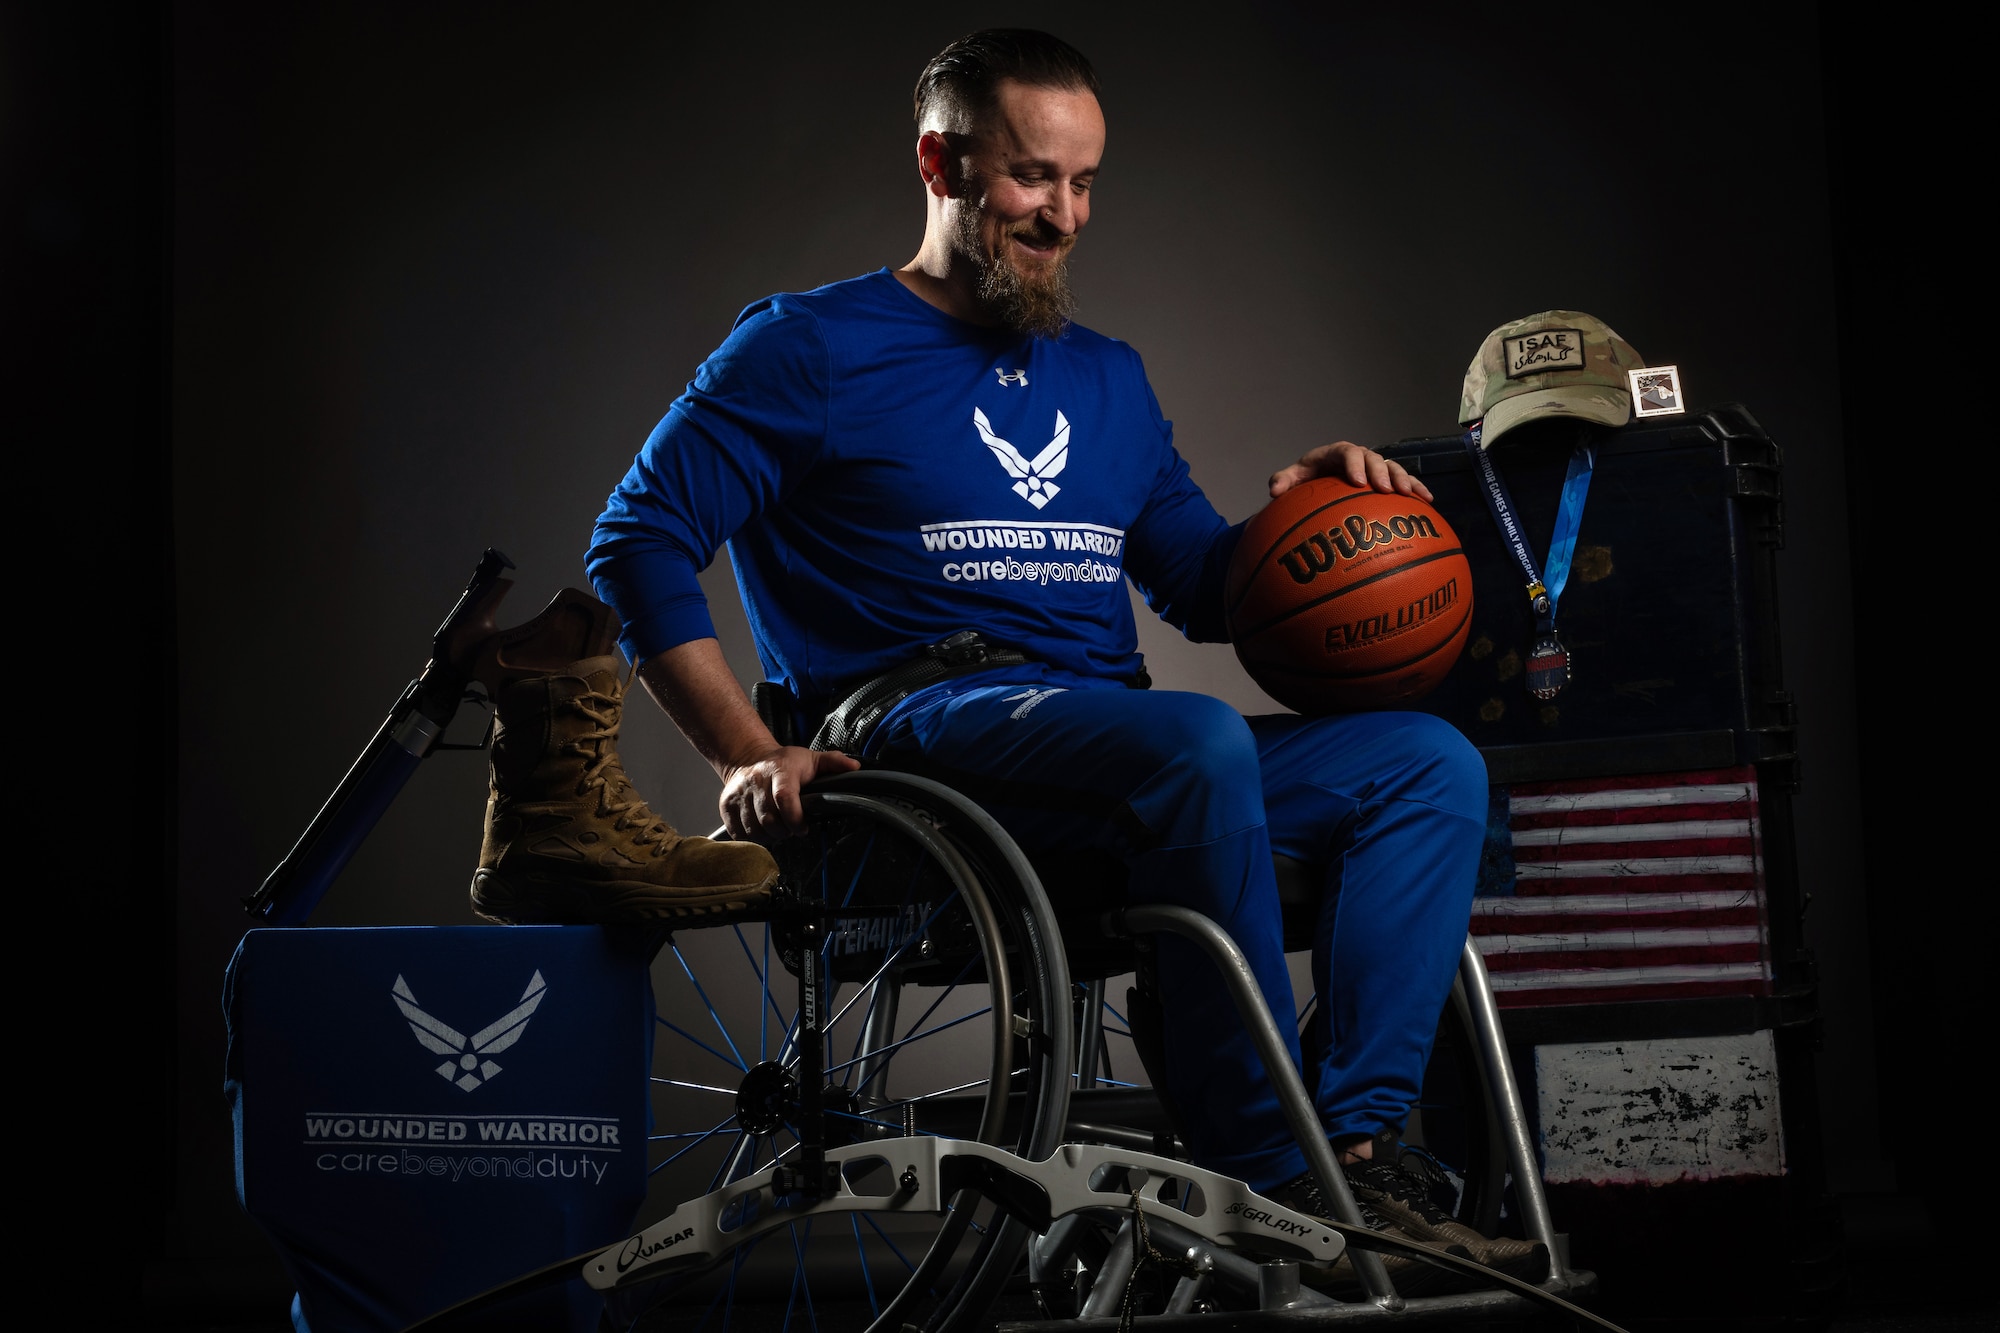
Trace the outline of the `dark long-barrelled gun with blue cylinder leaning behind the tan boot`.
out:
M 432 634 L 430 660 L 422 675 L 396 699 L 374 739 L 278 869 L 264 879 L 264 887 L 244 899 L 246 913 L 262 917 L 264 925 L 306 925 L 306 917 L 326 897 L 426 755 L 486 749 L 492 739 L 490 721 L 478 745 L 446 745 L 442 739 L 460 705 L 488 707 L 484 695 L 468 693 L 466 687 L 472 685 L 474 650 L 494 634 L 494 612 L 514 586 L 512 578 L 500 576 L 500 570 L 508 568 L 514 568 L 514 562 L 488 546 L 472 570 L 472 582 Z

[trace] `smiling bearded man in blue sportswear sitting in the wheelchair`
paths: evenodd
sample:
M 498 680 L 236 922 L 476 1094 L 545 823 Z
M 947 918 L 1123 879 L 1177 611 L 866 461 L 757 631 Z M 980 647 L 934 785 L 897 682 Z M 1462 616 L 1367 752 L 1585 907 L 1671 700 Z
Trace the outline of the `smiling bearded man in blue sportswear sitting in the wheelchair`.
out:
M 746 308 L 612 492 L 590 576 L 722 777 L 736 839 L 782 839 L 800 791 L 858 757 L 936 777 L 1030 855 L 1116 855 L 1134 903 L 1218 921 L 1286 1033 L 1272 855 L 1324 867 L 1306 1085 L 1326 1135 L 1374 1221 L 1522 1273 L 1546 1257 L 1450 1221 L 1396 1147 L 1466 937 L 1478 753 L 1426 715 L 1244 719 L 1146 689 L 1124 582 L 1190 638 L 1226 640 L 1240 524 L 1190 478 L 1138 354 L 1070 318 L 1096 92 L 1084 56 L 1040 32 L 940 52 L 916 88 L 916 258 Z M 1226 164 L 1188 168 L 1204 188 L 1180 222 L 1222 240 Z M 1270 490 L 1320 474 L 1428 498 L 1350 442 Z M 784 721 L 814 747 L 782 745 L 722 658 L 696 574 L 724 544 Z M 1212 963 L 1162 937 L 1158 973 L 1194 1161 L 1326 1215 Z

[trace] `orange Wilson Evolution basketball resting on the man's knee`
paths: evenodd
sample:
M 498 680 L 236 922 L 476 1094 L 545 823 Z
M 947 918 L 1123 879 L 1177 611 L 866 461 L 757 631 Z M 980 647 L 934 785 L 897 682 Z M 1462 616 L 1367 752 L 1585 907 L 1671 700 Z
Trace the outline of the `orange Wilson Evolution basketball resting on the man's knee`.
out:
M 1320 476 L 1244 526 L 1230 640 L 1298 713 L 1394 709 L 1444 681 L 1472 628 L 1472 566 L 1438 510 Z

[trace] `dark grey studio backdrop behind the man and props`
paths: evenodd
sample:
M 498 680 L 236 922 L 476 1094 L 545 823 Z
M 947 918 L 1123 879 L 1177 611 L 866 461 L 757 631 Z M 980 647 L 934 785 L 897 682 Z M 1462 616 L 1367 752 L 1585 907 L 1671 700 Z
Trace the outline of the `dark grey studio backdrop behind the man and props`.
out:
M 1952 901 L 1928 879 L 1952 845 L 1938 799 L 1886 777 L 1930 763 L 1922 739 L 1868 693 L 1856 711 L 1856 594 L 1866 626 L 1890 580 L 1866 500 L 1906 462 L 1884 470 L 1888 436 L 1864 448 L 1842 408 L 1890 418 L 1862 372 L 1872 334 L 1934 298 L 1920 274 L 1942 264 L 1880 196 L 1894 136 L 1872 98 L 1908 84 L 1880 44 L 1836 30 L 1822 50 L 1806 8 L 1598 18 L 1030 4 L 1006 22 L 1100 64 L 1110 146 L 1082 318 L 1146 356 L 1228 516 L 1310 444 L 1448 428 L 1480 336 L 1546 306 L 1600 314 L 1678 362 L 1696 402 L 1744 400 L 1788 448 L 1822 1105 L 1834 1185 L 1884 1191 L 1912 1073 L 1944 1045 L 1910 1029 L 1934 1031 L 1948 999 L 1908 905 Z M 414 671 L 482 544 L 520 562 L 518 614 L 578 582 L 604 492 L 744 302 L 914 252 L 908 86 L 992 16 L 8 20 L 38 98 L 16 104 L 50 112 L 8 138 L 28 186 L 8 248 L 32 260 L 10 282 L 52 310 L 16 362 L 38 428 L 24 468 L 74 518 L 42 588 L 80 602 L 118 685 L 116 705 L 86 705 L 110 777 L 74 779 L 86 807 L 114 803 L 118 833 L 92 823 L 102 809 L 66 817 L 98 841 L 82 933 L 130 963 L 88 1015 L 144 1033 L 116 1071 L 60 1041 L 50 1067 L 94 1093 L 106 1133 L 146 1127 L 144 1169 L 102 1165 L 166 1297 L 262 1263 L 220 1097 L 238 897 Z M 726 566 L 708 586 L 754 673 Z M 1226 648 L 1144 638 L 1162 685 L 1264 707 Z M 662 813 L 712 823 L 714 781 L 648 709 L 626 753 Z M 426 765 L 322 919 L 468 919 L 482 783 L 470 757 Z M 74 907 L 58 899 L 48 929 L 74 937 Z M 1896 985 L 1872 991 L 1872 967 Z M 1902 1025 L 1880 1069 L 1878 1011 Z

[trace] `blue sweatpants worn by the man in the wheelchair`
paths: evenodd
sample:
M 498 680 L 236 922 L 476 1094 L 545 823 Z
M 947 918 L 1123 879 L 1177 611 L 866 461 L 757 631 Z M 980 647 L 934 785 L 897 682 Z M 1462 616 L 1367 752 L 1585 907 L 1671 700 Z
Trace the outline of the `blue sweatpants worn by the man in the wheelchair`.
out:
M 1486 767 L 1422 713 L 1244 719 L 1218 699 L 1026 666 L 950 681 L 884 719 L 870 753 L 978 779 L 1030 853 L 1098 849 L 1134 903 L 1216 919 L 1300 1061 L 1272 853 L 1326 867 L 1312 947 L 1326 1133 L 1400 1127 L 1422 1087 L 1472 913 Z M 1166 1091 L 1194 1161 L 1270 1189 L 1306 1169 L 1222 977 L 1158 941 Z

